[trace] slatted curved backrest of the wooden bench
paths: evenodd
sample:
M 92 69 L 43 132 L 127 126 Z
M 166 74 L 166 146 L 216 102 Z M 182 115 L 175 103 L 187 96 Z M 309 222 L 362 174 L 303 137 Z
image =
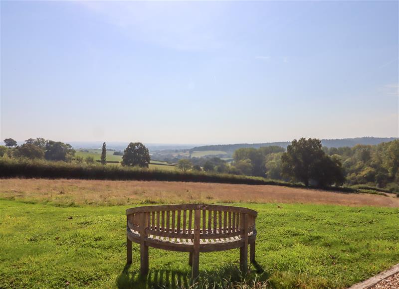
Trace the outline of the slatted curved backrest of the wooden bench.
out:
M 220 239 L 255 230 L 257 212 L 247 208 L 182 204 L 144 206 L 126 210 L 127 226 L 141 235 L 179 239 Z

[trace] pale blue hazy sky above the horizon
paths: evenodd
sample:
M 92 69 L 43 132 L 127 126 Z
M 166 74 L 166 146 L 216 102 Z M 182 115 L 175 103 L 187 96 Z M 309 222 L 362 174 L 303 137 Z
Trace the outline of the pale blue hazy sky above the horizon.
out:
M 1 1 L 1 140 L 399 136 L 398 1 Z

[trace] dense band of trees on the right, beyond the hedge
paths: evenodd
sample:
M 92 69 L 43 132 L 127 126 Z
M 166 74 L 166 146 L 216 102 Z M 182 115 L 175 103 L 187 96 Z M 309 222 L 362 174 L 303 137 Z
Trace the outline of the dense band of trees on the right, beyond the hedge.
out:
M 183 171 L 260 176 L 317 187 L 363 184 L 399 191 L 399 140 L 329 148 L 319 139 L 302 138 L 287 149 L 277 145 L 238 148 L 230 163 L 212 157 L 182 159 L 178 164 Z

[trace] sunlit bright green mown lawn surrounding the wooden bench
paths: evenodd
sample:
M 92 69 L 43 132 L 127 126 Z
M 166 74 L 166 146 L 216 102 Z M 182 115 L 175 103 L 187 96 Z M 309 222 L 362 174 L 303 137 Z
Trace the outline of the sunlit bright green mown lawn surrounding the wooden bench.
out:
M 399 209 L 239 204 L 258 211 L 252 278 L 272 288 L 345 288 L 399 263 Z M 190 275 L 188 253 L 139 246 L 125 268 L 127 206 L 57 207 L 1 200 L 0 288 L 174 287 Z M 237 280 L 238 249 L 200 255 L 202 279 Z M 232 276 L 230 276 L 230 274 Z M 175 282 L 175 280 L 177 281 Z M 221 285 L 222 286 L 222 285 Z

